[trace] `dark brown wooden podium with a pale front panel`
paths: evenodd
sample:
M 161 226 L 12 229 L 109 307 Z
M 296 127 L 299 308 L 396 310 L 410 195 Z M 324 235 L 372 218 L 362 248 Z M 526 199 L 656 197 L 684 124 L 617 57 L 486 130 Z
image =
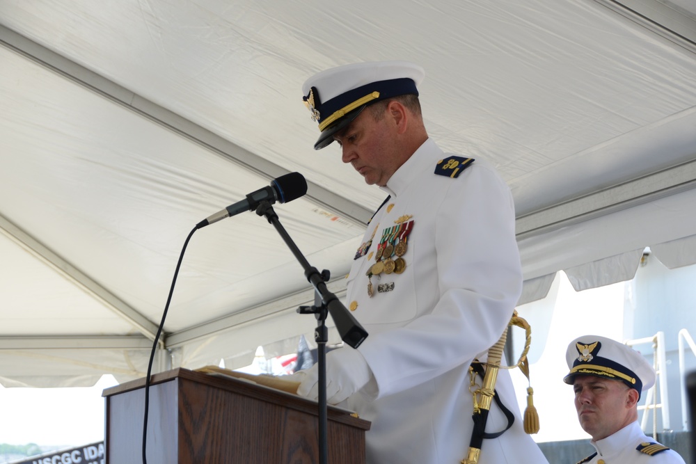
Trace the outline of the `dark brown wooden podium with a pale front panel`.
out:
M 142 462 L 145 379 L 107 388 L 106 463 Z M 174 369 L 150 382 L 148 464 L 314 464 L 317 403 L 229 378 Z M 329 464 L 365 463 L 370 422 L 329 406 Z

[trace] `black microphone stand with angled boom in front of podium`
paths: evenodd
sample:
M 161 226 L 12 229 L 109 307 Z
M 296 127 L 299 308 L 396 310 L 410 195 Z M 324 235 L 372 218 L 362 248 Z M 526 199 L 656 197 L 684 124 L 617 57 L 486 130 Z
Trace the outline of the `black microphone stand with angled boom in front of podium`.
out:
M 287 234 L 285 227 L 280 224 L 276 211 L 274 211 L 267 200 L 260 203 L 256 209 L 256 214 L 259 216 L 266 216 L 268 222 L 276 227 L 280 237 L 283 237 L 283 241 L 285 241 L 290 251 L 292 251 L 292 254 L 301 264 L 302 269 L 304 269 L 305 277 L 316 291 L 315 305 L 311 307 L 302 306 L 297 312 L 300 314 L 315 314 L 317 318 L 317 328 L 314 334 L 315 341 L 317 342 L 317 370 L 319 374 L 319 463 L 326 464 L 329 459 L 326 424 L 326 342 L 329 340 L 329 333 L 328 330 L 326 330 L 326 317 L 328 314 L 331 314 L 331 318 L 336 324 L 341 339 L 353 348 L 358 348 L 363 342 L 367 337 L 367 331 L 356 321 L 353 315 L 348 312 L 345 305 L 338 300 L 338 297 L 326 288 L 326 280 L 329 280 L 329 271 L 319 273 L 317 268 L 309 264 L 294 241 L 290 238 L 290 235 Z M 318 304 L 319 298 L 321 298 L 321 304 Z

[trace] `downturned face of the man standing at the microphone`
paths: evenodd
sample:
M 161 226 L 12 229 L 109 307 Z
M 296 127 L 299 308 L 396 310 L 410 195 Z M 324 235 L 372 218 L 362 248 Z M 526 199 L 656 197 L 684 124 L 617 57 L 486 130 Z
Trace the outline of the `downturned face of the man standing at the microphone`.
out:
M 367 184 L 385 186 L 404 159 L 395 147 L 397 127 L 390 110 L 387 108 L 379 120 L 370 110 L 363 110 L 334 138 L 341 146 L 344 163 L 351 163 Z

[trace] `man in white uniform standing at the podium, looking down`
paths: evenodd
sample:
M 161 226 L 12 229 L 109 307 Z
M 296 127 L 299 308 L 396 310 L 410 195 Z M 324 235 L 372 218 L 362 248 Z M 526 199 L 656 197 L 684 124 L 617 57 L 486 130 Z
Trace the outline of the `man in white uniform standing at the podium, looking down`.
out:
M 347 306 L 369 334 L 327 356 L 327 398 L 372 422 L 367 463 L 458 464 L 473 429 L 472 360 L 485 359 L 522 286 L 512 195 L 487 163 L 444 153 L 425 130 L 411 63 L 347 65 L 306 81 L 304 100 L 342 161 L 387 195 L 358 243 Z M 298 392 L 317 398 L 316 369 Z M 480 378 L 475 378 L 478 384 Z M 514 422 L 484 440 L 480 464 L 543 464 L 523 432 L 501 369 L 496 390 Z M 486 431 L 508 419 L 495 404 Z

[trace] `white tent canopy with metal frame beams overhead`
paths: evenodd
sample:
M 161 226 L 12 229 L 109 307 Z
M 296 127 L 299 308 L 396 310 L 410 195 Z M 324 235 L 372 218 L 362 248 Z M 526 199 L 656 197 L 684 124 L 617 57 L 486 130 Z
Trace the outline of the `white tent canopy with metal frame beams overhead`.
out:
M 312 150 L 301 83 L 354 61 L 425 67 L 429 134 L 495 163 L 521 302 L 559 270 L 630 276 L 644 247 L 695 262 L 695 44 L 688 0 L 0 1 L 0 383 L 143 376 L 189 231 L 288 172 L 309 192 L 276 212 L 341 296 L 383 195 Z M 205 227 L 157 369 L 292 349 L 312 301 L 264 218 Z

